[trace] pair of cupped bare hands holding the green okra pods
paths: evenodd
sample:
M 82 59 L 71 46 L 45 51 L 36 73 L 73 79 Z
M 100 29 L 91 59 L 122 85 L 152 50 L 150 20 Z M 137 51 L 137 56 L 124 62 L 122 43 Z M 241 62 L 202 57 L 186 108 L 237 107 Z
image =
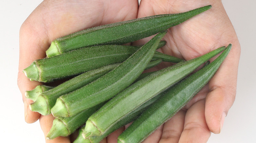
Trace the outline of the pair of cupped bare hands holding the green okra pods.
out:
M 26 90 L 41 84 L 30 81 L 22 72 L 32 61 L 46 57 L 52 40 L 73 32 L 119 21 L 165 13 L 180 13 L 206 5 L 212 8 L 169 29 L 163 38 L 167 44 L 160 52 L 189 60 L 232 43 L 232 49 L 210 82 L 173 118 L 160 126 L 144 142 L 207 142 L 211 132 L 218 134 L 236 95 L 240 44 L 221 0 L 44 0 L 20 28 L 18 87 L 22 93 L 25 121 L 40 120 L 46 136 L 53 116 L 42 116 L 29 109 Z M 134 42 L 140 45 L 145 38 Z M 166 66 L 163 65 L 162 66 Z M 159 67 L 161 68 L 161 67 Z M 102 143 L 116 142 L 128 125 L 118 129 Z M 74 135 L 75 136 L 75 135 Z M 46 140 L 69 143 L 73 136 Z

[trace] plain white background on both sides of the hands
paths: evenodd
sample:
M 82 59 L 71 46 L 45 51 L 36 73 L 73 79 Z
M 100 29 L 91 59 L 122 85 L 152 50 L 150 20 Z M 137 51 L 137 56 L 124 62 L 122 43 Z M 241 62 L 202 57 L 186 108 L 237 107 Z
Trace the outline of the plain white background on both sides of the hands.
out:
M 0 142 L 44 143 L 39 122 L 24 121 L 24 105 L 17 87 L 19 28 L 42 0 L 2 1 L 0 48 Z M 237 32 L 241 47 L 236 101 L 225 118 L 221 134 L 212 134 L 208 143 L 255 143 L 256 127 L 256 1 L 223 0 Z

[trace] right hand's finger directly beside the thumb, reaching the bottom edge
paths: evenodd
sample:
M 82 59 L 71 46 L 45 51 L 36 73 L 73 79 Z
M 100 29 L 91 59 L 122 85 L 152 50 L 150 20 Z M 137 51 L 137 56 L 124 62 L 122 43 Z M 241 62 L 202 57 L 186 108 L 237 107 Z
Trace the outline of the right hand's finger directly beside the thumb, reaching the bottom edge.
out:
M 206 143 L 211 132 L 204 117 L 205 100 L 193 104 L 186 112 L 184 129 L 179 142 Z

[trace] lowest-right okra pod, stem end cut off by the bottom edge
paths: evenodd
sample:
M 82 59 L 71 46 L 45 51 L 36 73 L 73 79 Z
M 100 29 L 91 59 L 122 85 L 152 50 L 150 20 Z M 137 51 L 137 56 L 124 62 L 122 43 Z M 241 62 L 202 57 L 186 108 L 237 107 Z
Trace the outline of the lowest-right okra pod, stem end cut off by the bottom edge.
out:
M 174 116 L 213 77 L 228 55 L 231 44 L 212 63 L 179 82 L 163 93 L 121 135 L 118 143 L 139 143 L 153 133 L 161 124 Z

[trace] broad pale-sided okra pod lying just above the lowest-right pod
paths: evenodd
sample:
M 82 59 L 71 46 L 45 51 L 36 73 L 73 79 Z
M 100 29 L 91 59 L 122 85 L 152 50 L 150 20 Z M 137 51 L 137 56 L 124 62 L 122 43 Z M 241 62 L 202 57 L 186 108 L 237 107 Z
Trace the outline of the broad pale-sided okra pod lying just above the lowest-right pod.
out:
M 116 122 L 126 118 L 131 112 L 176 84 L 223 50 L 224 47 L 220 47 L 203 56 L 156 71 L 127 87 L 89 117 L 83 132 L 84 136 L 105 134 L 112 126 L 115 126 Z

